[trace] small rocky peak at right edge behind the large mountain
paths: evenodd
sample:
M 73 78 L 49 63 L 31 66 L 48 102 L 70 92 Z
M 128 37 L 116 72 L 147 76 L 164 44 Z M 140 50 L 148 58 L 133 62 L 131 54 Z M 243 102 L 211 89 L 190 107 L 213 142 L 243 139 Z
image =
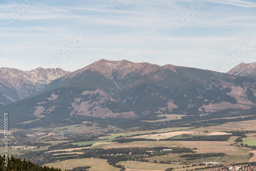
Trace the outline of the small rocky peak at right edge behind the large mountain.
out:
M 238 66 L 228 71 L 227 74 L 256 78 L 256 62 L 240 63 Z

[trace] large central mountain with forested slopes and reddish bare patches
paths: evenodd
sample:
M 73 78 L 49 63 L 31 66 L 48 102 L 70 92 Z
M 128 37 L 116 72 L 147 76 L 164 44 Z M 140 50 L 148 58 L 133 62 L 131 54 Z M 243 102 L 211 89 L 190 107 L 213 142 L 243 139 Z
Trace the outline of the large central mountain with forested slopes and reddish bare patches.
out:
M 73 124 L 83 121 L 82 117 L 199 116 L 251 109 L 256 106 L 255 84 L 254 78 L 209 70 L 101 59 L 53 80 L 40 94 L 8 104 L 0 112 L 9 111 L 13 123 L 36 119 L 30 126 Z

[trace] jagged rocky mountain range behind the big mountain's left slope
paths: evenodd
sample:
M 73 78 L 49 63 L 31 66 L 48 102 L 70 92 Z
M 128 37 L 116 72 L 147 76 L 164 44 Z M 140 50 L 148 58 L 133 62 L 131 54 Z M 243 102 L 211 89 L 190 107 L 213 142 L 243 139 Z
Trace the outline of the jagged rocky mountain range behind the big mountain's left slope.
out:
M 31 71 L 0 69 L 0 105 L 24 99 L 39 92 L 52 80 L 66 75 L 62 69 L 37 68 Z

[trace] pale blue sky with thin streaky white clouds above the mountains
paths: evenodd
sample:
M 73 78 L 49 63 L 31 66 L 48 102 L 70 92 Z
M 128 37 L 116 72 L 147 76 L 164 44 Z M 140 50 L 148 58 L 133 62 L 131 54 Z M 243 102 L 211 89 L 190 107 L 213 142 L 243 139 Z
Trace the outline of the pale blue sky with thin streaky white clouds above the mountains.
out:
M 0 68 L 129 60 L 227 72 L 256 62 L 256 1 L 0 1 Z

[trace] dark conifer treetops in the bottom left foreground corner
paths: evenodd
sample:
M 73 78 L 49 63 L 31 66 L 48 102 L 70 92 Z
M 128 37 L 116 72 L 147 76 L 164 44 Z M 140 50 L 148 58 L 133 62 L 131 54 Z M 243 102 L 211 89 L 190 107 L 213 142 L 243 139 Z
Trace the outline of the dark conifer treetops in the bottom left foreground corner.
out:
M 34 164 L 30 161 L 27 160 L 22 160 L 20 158 L 15 158 L 15 157 L 11 157 L 11 159 L 9 159 L 8 157 L 8 167 L 6 167 L 4 164 L 4 161 L 6 161 L 4 159 L 4 157 L 0 156 L 0 163 L 2 163 L 0 165 L 0 170 L 3 171 L 12 171 L 12 170 L 19 170 L 19 171 L 61 171 L 60 168 L 53 168 L 53 167 L 48 167 L 48 166 L 39 166 L 38 164 Z

